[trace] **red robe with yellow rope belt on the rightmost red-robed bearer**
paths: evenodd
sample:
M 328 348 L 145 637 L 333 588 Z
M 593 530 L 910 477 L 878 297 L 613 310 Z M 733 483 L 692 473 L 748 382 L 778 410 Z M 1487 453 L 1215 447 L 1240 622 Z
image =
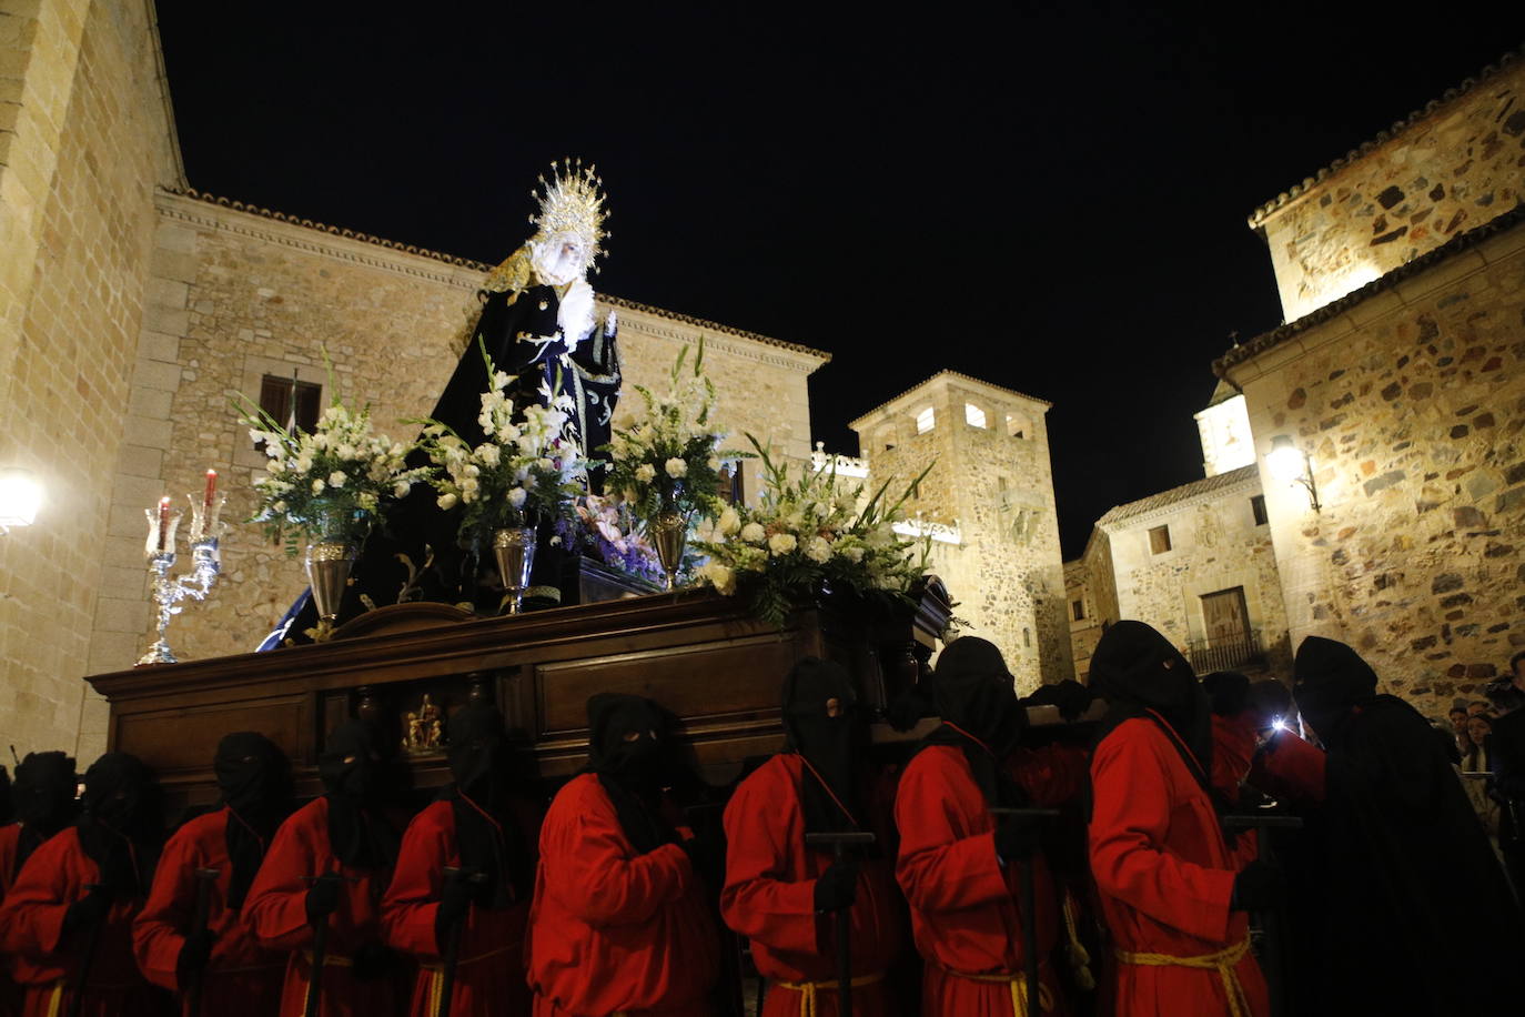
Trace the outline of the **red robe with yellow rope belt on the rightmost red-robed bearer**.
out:
M 1162 959 L 1211 958 L 1238 950 L 1249 936 L 1247 915 L 1229 910 L 1235 865 L 1212 800 L 1177 744 L 1161 724 L 1135 718 L 1092 755 L 1090 868 L 1118 950 L 1118 1017 L 1231 1012 L 1223 970 Z M 1225 965 L 1252 1017 L 1266 1017 L 1255 956 L 1246 950 Z

